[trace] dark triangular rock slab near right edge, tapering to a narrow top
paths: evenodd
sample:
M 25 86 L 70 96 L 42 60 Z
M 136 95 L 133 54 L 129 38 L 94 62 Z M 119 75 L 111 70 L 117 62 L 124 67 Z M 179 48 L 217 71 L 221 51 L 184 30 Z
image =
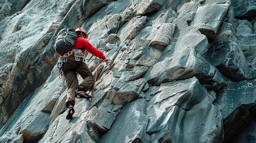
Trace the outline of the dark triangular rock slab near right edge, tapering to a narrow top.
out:
M 216 34 L 207 53 L 213 66 L 234 81 L 254 79 L 255 71 L 249 67 L 240 42 L 235 37 L 233 24 L 234 15 L 229 11 L 225 22 Z M 238 29 L 239 30 L 239 29 Z M 246 30 L 246 29 L 245 29 Z M 241 38 L 239 38 L 241 39 Z M 243 43 L 243 40 L 241 41 Z

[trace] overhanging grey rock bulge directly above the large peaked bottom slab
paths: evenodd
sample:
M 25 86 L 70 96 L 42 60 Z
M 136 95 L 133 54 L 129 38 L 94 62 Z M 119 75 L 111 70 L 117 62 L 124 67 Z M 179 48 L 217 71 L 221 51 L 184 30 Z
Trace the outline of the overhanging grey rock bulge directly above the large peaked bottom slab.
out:
M 224 86 L 225 79 L 218 71 L 216 72 L 216 68 L 207 62 L 206 59 L 202 58 L 201 55 L 198 55 L 195 49 L 191 48 L 191 45 L 195 45 L 194 47 L 200 45 L 201 40 L 204 40 L 204 38 L 198 41 L 193 41 L 193 38 L 190 40 L 183 40 L 183 38 L 185 37 L 180 38 L 174 47 L 166 48 L 168 51 L 165 51 L 159 62 L 146 71 L 144 78 L 147 79 L 148 83 L 151 85 L 160 85 L 164 82 L 183 80 L 196 76 L 204 84 L 211 82 L 211 88 L 219 89 Z M 200 53 L 205 52 L 200 51 Z

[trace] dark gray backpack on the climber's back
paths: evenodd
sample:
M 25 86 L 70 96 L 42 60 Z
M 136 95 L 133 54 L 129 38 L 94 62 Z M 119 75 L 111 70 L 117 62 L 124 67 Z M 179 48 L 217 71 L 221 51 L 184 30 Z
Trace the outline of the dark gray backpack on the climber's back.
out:
M 62 56 L 68 51 L 74 49 L 73 45 L 76 41 L 77 34 L 72 28 L 64 28 L 58 33 L 54 43 L 54 50 Z

